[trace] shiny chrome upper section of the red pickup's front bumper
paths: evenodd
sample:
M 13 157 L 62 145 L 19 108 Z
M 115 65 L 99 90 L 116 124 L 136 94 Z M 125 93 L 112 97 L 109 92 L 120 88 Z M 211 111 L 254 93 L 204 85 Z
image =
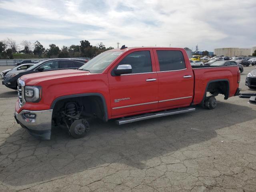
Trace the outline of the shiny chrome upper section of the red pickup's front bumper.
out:
M 15 116 L 20 124 L 29 130 L 43 131 L 52 129 L 52 109 L 41 111 L 22 110 L 20 113 L 15 112 Z M 36 118 L 30 119 L 24 116 L 24 113 L 36 114 Z

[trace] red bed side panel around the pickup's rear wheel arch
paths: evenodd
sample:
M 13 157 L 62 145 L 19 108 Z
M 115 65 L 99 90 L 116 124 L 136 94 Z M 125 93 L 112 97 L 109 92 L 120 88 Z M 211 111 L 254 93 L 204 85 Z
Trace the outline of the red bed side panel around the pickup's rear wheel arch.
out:
M 238 66 L 193 68 L 192 70 L 195 77 L 193 104 L 199 104 L 202 101 L 208 82 L 213 80 L 228 80 L 228 97 L 232 97 L 236 93 L 236 89 L 239 86 L 239 83 L 237 82 L 239 71 Z

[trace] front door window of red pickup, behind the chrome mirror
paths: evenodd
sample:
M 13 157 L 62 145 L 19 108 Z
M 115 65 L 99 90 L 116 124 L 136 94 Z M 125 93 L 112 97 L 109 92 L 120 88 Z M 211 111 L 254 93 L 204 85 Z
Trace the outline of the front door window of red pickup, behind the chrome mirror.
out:
M 136 51 L 128 54 L 118 65 L 124 64 L 132 66 L 133 74 L 152 72 L 150 51 Z

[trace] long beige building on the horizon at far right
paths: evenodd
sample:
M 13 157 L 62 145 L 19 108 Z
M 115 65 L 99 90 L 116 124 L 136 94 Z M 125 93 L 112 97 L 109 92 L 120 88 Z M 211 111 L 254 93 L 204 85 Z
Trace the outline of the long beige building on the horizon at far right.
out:
M 256 47 L 252 48 L 217 48 L 214 49 L 214 55 L 216 56 L 248 56 L 252 55 L 254 53 L 254 50 L 256 50 Z

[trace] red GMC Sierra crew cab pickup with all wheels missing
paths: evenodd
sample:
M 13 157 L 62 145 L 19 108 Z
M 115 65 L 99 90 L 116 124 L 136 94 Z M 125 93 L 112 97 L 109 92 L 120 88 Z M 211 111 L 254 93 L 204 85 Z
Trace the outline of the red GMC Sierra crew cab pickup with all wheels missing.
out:
M 182 48 L 123 46 L 78 70 L 22 76 L 14 117 L 38 138 L 50 139 L 55 126 L 80 138 L 90 118 L 125 124 L 194 111 L 197 104 L 213 109 L 218 94 L 239 94 L 239 82 L 238 66 L 192 68 Z

